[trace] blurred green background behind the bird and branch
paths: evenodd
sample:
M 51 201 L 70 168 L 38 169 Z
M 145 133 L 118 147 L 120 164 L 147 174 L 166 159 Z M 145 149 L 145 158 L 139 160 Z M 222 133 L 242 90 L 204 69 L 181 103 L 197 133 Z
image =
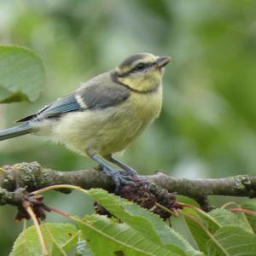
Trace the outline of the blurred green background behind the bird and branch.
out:
M 225 177 L 256 171 L 256 2 L 254 0 L 0 0 L 0 44 L 38 52 L 47 84 L 37 102 L 0 105 L 0 127 L 37 111 L 128 55 L 171 55 L 160 118 L 123 155 L 139 173 Z M 0 166 L 38 160 L 58 170 L 94 164 L 39 137 L 0 143 Z M 46 202 L 84 214 L 84 195 Z M 67 204 L 68 201 L 68 204 Z M 0 251 L 22 229 L 0 210 Z M 54 213 L 49 221 L 57 221 Z M 3 235 L 4 234 L 4 235 Z

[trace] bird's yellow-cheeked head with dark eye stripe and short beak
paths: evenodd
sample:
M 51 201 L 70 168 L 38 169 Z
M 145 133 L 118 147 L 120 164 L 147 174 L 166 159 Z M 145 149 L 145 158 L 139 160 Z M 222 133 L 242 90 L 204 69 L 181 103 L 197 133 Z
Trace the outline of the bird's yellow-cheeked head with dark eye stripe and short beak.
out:
M 149 53 L 131 55 L 113 70 L 115 82 L 125 84 L 131 90 L 154 91 L 161 83 L 165 66 L 171 61 L 168 56 L 154 56 Z

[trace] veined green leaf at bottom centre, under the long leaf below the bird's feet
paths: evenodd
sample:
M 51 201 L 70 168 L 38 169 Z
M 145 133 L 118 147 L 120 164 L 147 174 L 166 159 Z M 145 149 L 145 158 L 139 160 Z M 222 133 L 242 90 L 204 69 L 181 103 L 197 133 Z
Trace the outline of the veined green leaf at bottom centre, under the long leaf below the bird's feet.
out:
M 127 224 L 119 224 L 116 219 L 101 215 L 86 216 L 77 222 L 82 236 L 91 251 L 102 255 L 166 255 L 177 256 L 176 247 L 166 249 L 160 242 L 152 241 Z

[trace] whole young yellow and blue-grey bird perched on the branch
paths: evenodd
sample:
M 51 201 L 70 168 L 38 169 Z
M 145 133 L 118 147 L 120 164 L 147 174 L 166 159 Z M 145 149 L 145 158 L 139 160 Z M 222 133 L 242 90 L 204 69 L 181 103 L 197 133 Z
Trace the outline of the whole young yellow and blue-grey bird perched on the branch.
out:
M 25 134 L 48 137 L 95 160 L 102 172 L 113 177 L 117 189 L 120 183 L 131 183 L 129 176 L 136 172 L 113 154 L 124 150 L 159 116 L 162 77 L 170 60 L 148 53 L 131 55 L 113 70 L 17 121 L 23 124 L 0 131 L 0 141 Z

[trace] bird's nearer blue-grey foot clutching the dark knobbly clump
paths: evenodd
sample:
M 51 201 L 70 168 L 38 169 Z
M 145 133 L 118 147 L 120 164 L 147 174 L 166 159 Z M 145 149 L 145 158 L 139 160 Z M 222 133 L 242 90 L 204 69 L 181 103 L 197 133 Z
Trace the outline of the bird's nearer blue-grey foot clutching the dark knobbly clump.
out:
M 114 192 L 119 192 L 121 183 L 125 185 L 135 185 L 135 183 L 132 181 L 132 178 L 130 175 L 127 175 L 125 172 L 124 174 L 121 174 L 120 172 L 113 170 L 111 168 L 103 167 L 102 172 L 106 173 L 108 176 L 113 177 L 113 181 L 115 183 L 115 189 Z

